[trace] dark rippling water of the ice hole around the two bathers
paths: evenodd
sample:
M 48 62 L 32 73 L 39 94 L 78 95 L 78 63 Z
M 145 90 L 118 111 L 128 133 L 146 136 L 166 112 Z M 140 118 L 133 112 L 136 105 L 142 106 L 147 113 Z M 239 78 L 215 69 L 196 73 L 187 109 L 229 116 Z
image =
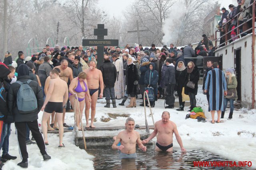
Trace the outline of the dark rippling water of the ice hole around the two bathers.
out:
M 154 145 L 147 146 L 147 151 L 137 149 L 136 159 L 118 159 L 118 151 L 111 146 L 88 147 L 88 154 L 94 155 L 95 170 L 190 170 L 190 169 L 214 169 L 214 170 L 242 170 L 244 167 L 194 167 L 193 161 L 228 161 L 217 154 L 206 150 L 191 149 L 186 154 L 174 148 L 173 153 L 155 152 Z M 234 161 L 234 160 L 233 160 Z

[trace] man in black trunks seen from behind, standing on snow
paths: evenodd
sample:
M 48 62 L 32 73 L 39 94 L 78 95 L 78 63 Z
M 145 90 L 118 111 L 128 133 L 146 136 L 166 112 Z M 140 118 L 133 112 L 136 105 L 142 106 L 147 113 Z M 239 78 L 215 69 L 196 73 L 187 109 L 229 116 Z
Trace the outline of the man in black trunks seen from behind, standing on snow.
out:
M 50 72 L 50 85 L 49 90 L 46 95 L 44 105 L 42 107 L 42 111 L 44 110 L 43 117 L 42 117 L 42 130 L 44 134 L 44 143 L 48 145 L 47 139 L 47 120 L 51 116 L 52 112 L 55 111 L 57 122 L 59 125 L 59 138 L 60 143 L 59 147 L 64 147 L 62 143 L 63 138 L 63 123 L 62 123 L 62 111 L 63 106 L 68 101 L 68 85 L 65 83 L 64 80 L 60 79 L 59 72 L 57 70 L 52 70 Z

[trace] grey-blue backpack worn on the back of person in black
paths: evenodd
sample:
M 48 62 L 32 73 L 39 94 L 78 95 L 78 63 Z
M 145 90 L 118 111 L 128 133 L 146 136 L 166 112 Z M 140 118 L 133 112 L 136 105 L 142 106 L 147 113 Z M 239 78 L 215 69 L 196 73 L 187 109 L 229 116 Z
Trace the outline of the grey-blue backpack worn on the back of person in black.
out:
M 32 80 L 28 80 L 26 82 L 16 81 L 20 84 L 20 89 L 17 94 L 18 111 L 23 114 L 31 113 L 38 109 L 36 95 L 29 86 L 31 81 Z

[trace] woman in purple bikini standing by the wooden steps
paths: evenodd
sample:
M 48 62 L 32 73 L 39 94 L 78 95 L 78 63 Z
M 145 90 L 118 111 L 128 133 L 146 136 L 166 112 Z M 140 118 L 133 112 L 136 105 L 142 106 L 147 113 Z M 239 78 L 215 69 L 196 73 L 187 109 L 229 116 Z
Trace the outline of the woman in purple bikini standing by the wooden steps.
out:
M 91 96 L 89 94 L 89 90 L 87 88 L 87 80 L 86 80 L 86 73 L 85 72 L 80 72 L 78 74 L 78 77 L 74 78 L 70 85 L 69 85 L 69 100 L 70 103 L 72 105 L 72 107 L 76 107 L 78 108 L 76 102 L 74 101 L 74 94 L 77 94 L 78 97 L 78 102 L 79 102 L 79 108 L 80 108 L 80 115 L 82 118 L 82 113 L 83 113 L 83 109 L 84 109 L 84 104 L 85 104 L 85 95 L 88 96 L 89 101 L 91 102 Z M 75 106 L 76 104 L 76 106 Z M 76 109 L 76 126 L 78 127 L 78 130 L 82 130 L 82 128 L 80 127 L 80 118 L 79 118 L 79 111 L 78 109 Z

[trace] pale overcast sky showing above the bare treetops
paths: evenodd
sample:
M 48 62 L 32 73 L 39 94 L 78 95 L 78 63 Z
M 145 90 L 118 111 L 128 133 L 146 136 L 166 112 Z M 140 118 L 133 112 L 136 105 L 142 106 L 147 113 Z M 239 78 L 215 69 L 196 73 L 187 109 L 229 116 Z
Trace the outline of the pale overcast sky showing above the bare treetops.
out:
M 108 16 L 115 16 L 116 18 L 122 19 L 122 11 L 125 11 L 134 0 L 99 0 L 98 6 L 104 10 Z M 236 0 L 218 0 L 221 4 L 220 8 L 225 7 L 228 10 L 228 5 L 233 4 L 237 6 Z

